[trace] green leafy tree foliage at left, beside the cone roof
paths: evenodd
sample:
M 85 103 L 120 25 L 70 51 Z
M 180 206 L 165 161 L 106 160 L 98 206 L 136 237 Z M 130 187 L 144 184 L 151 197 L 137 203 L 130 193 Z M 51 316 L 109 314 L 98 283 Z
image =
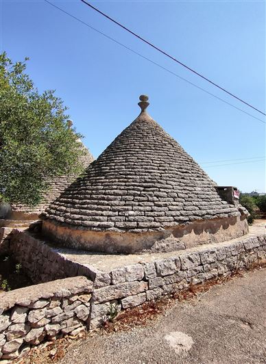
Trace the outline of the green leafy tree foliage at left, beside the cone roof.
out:
M 48 187 L 43 176 L 81 172 L 84 151 L 62 100 L 53 90 L 39 94 L 25 62 L 0 55 L 0 200 L 36 205 Z

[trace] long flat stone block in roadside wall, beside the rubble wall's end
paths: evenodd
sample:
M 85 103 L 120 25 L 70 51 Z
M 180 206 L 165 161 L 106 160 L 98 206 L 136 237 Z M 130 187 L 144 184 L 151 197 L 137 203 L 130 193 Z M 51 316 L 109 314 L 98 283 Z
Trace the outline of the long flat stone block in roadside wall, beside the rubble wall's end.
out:
M 119 285 L 111 285 L 96 289 L 94 292 L 93 300 L 95 303 L 106 302 L 108 300 L 115 300 L 127 296 L 139 294 L 147 289 L 147 282 L 126 282 Z

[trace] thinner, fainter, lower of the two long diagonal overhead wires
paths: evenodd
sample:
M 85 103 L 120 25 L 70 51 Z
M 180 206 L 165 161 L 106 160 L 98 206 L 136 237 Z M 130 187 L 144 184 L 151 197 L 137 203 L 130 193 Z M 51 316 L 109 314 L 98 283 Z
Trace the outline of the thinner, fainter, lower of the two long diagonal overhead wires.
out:
M 240 112 L 243 112 L 244 114 L 250 116 L 251 118 L 254 118 L 260 122 L 263 122 L 263 124 L 266 124 L 265 121 L 261 120 L 260 118 L 257 118 L 256 116 L 248 113 L 248 112 L 245 112 L 243 109 L 241 109 L 240 107 L 237 107 L 237 106 L 234 106 L 232 105 L 231 103 L 228 103 L 228 101 L 226 100 L 223 100 L 221 99 L 219 96 L 216 96 L 215 94 L 212 94 L 211 92 L 208 92 L 207 90 L 205 90 L 204 88 L 201 88 L 197 85 L 195 85 L 195 83 L 187 80 L 187 79 L 184 79 L 184 77 L 181 77 L 179 75 L 177 75 L 176 73 L 172 72 L 171 70 L 169 70 L 168 68 L 165 68 L 164 66 L 161 66 L 160 64 L 154 62 L 153 60 L 149 59 L 148 57 L 145 57 L 145 55 L 142 55 L 141 53 L 138 53 L 136 51 L 134 51 L 134 49 L 131 49 L 130 47 L 126 46 L 125 44 L 119 42 L 118 40 L 108 36 L 107 34 L 103 33 L 102 31 L 99 31 L 98 29 L 96 29 L 95 27 L 92 27 L 91 25 L 89 25 L 88 23 L 85 23 L 84 21 L 82 21 L 80 18 L 77 18 L 76 16 L 74 16 L 73 14 L 69 13 L 69 12 L 66 12 L 66 10 L 63 10 L 62 8 L 59 8 L 57 5 L 51 3 L 50 1 L 48 0 L 44 0 L 46 3 L 49 3 L 49 5 L 53 6 L 53 8 L 56 8 L 58 10 L 60 10 L 61 12 L 63 12 L 64 14 L 66 15 L 69 15 L 71 16 L 71 18 L 75 19 L 76 21 L 79 21 L 80 23 L 82 23 L 83 25 L 86 25 L 86 27 L 96 31 L 97 33 L 101 34 L 101 36 L 104 36 L 105 38 L 108 38 L 109 40 L 112 40 L 112 42 L 115 42 L 117 44 L 119 44 L 121 47 L 127 49 L 128 51 L 138 55 L 139 57 L 143 58 L 144 60 L 147 60 L 148 62 L 151 62 L 152 64 L 154 64 L 155 66 L 158 66 L 160 68 L 162 68 L 162 70 L 165 70 L 167 71 L 168 73 L 170 73 L 171 75 L 175 76 L 175 77 L 178 77 L 178 79 L 182 79 L 182 81 L 186 82 L 186 83 L 189 83 L 191 86 L 194 86 L 195 88 L 198 88 L 199 90 L 205 92 L 206 94 L 209 94 L 210 96 L 213 96 L 215 97 L 215 99 L 223 102 L 223 103 L 226 103 L 227 105 L 230 105 L 231 107 L 234 107 L 234 109 L 237 109 L 239 110 Z

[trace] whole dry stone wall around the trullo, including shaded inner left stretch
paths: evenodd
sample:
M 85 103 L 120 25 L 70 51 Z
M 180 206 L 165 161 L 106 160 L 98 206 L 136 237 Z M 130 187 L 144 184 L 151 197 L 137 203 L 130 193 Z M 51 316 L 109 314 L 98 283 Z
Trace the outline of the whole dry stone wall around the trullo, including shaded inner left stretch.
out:
M 70 261 L 27 232 L 12 233 L 10 250 L 36 281 L 49 274 L 50 279 L 73 277 L 0 295 L 1 359 L 15 359 L 46 339 L 98 328 L 122 309 L 265 261 L 266 235 L 200 246 L 110 272 Z

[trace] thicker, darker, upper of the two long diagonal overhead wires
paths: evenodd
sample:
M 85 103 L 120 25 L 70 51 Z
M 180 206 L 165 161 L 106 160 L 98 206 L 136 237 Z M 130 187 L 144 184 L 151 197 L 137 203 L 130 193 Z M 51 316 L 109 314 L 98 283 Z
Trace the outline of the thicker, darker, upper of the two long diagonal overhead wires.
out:
M 205 81 L 211 83 L 213 86 L 219 88 L 220 90 L 222 90 L 223 92 L 226 92 L 226 94 L 234 97 L 234 99 L 237 99 L 238 101 L 240 101 L 241 103 L 244 103 L 245 105 L 252 107 L 252 109 L 256 110 L 257 112 L 263 114 L 266 116 L 266 114 L 264 112 L 261 112 L 261 110 L 257 109 L 256 107 L 250 105 L 250 103 L 247 103 L 246 101 L 243 101 L 242 99 L 240 99 L 238 96 L 232 94 L 232 92 L 227 91 L 225 88 L 222 88 L 221 86 L 219 86 L 217 83 L 211 81 L 210 79 L 208 79 L 207 77 L 205 77 L 204 75 L 198 73 L 196 70 L 193 70 L 193 68 L 186 66 L 186 64 L 180 62 L 179 60 L 177 60 L 175 57 L 173 57 L 172 55 L 169 55 L 169 53 L 162 51 L 162 49 L 156 47 L 154 44 L 152 44 L 151 42 L 149 42 L 148 40 L 145 40 L 143 37 L 138 36 L 138 34 L 134 33 L 134 31 L 128 29 L 127 27 L 125 27 L 125 25 L 122 25 L 121 23 L 119 23 L 118 21 L 115 21 L 113 18 L 111 18 L 110 16 L 108 16 L 107 14 L 105 14 L 104 12 L 101 12 L 101 10 L 95 8 L 95 6 L 91 5 L 90 3 L 87 3 L 85 0 L 81 0 L 82 3 L 88 5 L 91 9 L 95 10 L 96 12 L 98 12 L 99 14 L 105 16 L 106 18 L 108 18 L 108 20 L 112 21 L 113 23 L 119 25 L 119 27 L 125 29 L 125 31 L 128 31 L 130 34 L 132 34 L 132 36 L 135 36 L 136 38 L 142 40 L 143 42 L 145 42 L 146 44 L 148 44 L 150 47 L 156 49 L 156 51 L 162 53 L 163 55 L 166 55 L 167 57 L 169 57 L 171 60 L 173 60 L 174 62 L 177 62 L 178 64 L 180 64 L 181 66 L 183 66 L 184 68 L 186 68 L 187 70 L 190 70 L 192 73 L 194 73 L 195 75 L 201 77 L 202 79 L 204 79 Z

